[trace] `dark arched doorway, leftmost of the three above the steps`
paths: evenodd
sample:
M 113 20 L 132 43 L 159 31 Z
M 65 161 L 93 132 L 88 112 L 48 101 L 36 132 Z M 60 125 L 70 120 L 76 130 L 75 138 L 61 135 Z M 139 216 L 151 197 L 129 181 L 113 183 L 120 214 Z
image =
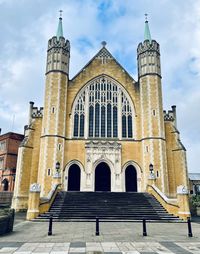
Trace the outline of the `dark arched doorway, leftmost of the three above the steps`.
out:
M 73 164 L 68 170 L 68 191 L 80 191 L 81 171 L 78 165 Z

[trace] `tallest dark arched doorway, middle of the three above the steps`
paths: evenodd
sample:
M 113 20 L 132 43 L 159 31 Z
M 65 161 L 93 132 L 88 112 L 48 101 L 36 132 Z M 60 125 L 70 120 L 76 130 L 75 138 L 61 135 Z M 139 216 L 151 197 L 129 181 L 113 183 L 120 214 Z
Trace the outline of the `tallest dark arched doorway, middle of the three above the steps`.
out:
M 110 168 L 105 162 L 101 162 L 95 169 L 95 191 L 110 191 Z

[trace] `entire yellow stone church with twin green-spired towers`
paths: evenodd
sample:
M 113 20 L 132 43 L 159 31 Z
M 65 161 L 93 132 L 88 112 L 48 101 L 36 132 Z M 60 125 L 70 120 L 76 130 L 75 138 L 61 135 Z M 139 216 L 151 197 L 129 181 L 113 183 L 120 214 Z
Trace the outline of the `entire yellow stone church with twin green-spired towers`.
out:
M 70 42 L 59 18 L 57 35 L 48 41 L 44 107 L 30 102 L 13 208 L 28 209 L 33 218 L 59 185 L 65 191 L 150 192 L 168 211 L 188 217 L 186 150 L 176 106 L 163 110 L 160 47 L 147 20 L 137 66 L 136 81 L 102 42 L 69 79 Z

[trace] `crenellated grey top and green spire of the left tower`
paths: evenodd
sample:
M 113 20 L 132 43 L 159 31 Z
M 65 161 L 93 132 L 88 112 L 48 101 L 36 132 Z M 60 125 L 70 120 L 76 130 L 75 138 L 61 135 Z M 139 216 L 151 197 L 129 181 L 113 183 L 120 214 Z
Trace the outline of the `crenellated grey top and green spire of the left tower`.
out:
M 69 74 L 70 43 L 63 37 L 62 17 L 59 18 L 56 36 L 48 41 L 46 74 L 61 71 Z

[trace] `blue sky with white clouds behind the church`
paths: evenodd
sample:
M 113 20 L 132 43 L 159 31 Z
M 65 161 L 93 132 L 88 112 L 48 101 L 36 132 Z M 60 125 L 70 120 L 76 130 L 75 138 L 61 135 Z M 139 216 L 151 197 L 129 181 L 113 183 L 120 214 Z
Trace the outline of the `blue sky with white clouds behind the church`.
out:
M 0 0 L 0 128 L 23 133 L 29 101 L 43 106 L 47 42 L 59 10 L 72 78 L 107 42 L 137 81 L 136 50 L 148 13 L 160 44 L 163 105 L 177 106 L 189 172 L 200 173 L 200 0 Z

